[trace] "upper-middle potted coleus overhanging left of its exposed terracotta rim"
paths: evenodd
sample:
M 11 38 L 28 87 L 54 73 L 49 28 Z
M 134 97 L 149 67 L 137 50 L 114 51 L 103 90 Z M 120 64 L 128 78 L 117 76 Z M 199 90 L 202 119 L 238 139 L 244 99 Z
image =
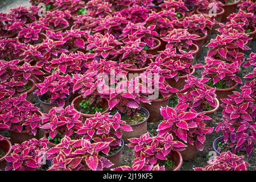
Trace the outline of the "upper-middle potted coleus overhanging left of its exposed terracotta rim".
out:
M 129 22 L 125 29 L 123 29 L 122 36 L 127 37 L 124 39 L 124 43 L 129 43 L 134 39 L 140 39 L 142 43 L 146 43 L 144 49 L 147 53 L 151 55 L 156 55 L 161 42 L 159 39 L 156 39 L 154 36 L 158 36 L 158 33 L 155 31 L 156 25 L 150 25 L 145 27 L 146 23 L 131 23 Z

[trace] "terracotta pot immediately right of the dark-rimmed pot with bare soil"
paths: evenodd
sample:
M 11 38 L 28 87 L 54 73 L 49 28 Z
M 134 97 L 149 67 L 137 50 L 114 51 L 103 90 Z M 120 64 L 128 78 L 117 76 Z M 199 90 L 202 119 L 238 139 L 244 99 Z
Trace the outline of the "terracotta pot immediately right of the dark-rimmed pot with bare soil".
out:
M 163 119 L 160 113 L 160 107 L 166 107 L 170 101 L 172 94 L 170 94 L 166 98 L 160 98 L 151 101 L 151 105 L 147 103 L 143 103 L 142 106 L 148 110 L 150 113 L 150 117 L 148 118 L 148 122 L 158 122 L 160 119 Z

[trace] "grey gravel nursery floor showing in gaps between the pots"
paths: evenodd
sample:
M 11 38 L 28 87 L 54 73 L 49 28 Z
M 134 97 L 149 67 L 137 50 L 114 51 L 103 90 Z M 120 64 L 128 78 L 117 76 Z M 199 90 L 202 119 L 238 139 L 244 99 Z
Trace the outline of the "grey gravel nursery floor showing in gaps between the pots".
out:
M 17 6 L 29 6 L 29 0 L 1 0 L 0 2 L 0 12 L 2 13 L 8 13 L 10 9 L 17 7 Z M 212 38 L 215 38 L 216 35 L 214 34 Z M 256 52 L 256 40 L 251 43 L 250 45 L 251 50 L 246 52 L 246 56 L 249 57 L 251 52 Z M 204 57 L 206 56 L 206 53 L 208 51 L 208 48 L 204 47 L 202 51 L 202 55 L 199 59 L 197 59 L 196 63 L 204 63 Z M 240 72 L 240 77 L 242 78 L 245 76 L 247 73 L 249 73 L 251 70 L 250 68 L 243 68 L 243 70 Z M 195 76 L 200 77 L 201 70 L 197 70 Z M 245 80 L 243 80 L 244 82 Z M 238 88 L 239 89 L 239 88 Z M 40 104 L 36 98 L 34 98 L 34 104 L 38 107 L 40 107 Z M 211 126 L 216 126 L 214 123 L 220 122 L 222 119 L 222 114 L 221 114 L 222 108 L 218 110 L 212 120 L 212 125 Z M 148 123 L 148 131 L 152 134 L 156 134 L 156 129 L 158 127 L 158 122 L 154 123 Z M 192 162 L 183 162 L 183 165 L 181 167 L 181 170 L 188 171 L 188 170 L 193 170 L 193 167 L 204 167 L 207 165 L 208 159 L 211 157 L 209 155 L 210 151 L 213 151 L 213 140 L 217 137 L 219 137 L 220 134 L 213 132 L 210 135 L 207 135 L 207 140 L 205 142 L 205 148 L 204 151 L 200 152 L 199 156 L 193 160 Z M 131 162 L 134 159 L 133 155 L 133 150 L 131 150 L 129 147 L 125 146 L 125 150 L 122 152 L 122 159 L 123 165 L 129 165 L 131 166 Z M 249 159 L 250 163 L 250 170 L 255 171 L 256 170 L 256 148 L 254 148 L 253 156 Z

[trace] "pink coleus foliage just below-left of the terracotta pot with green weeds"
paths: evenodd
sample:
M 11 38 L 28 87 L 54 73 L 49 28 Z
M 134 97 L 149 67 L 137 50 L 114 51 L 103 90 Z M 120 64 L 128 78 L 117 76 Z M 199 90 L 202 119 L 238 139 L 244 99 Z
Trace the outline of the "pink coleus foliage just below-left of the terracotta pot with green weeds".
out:
M 49 140 L 57 140 L 64 136 L 79 139 L 76 131 L 82 127 L 81 113 L 74 109 L 73 105 L 67 107 L 53 107 L 48 114 L 42 115 L 41 128 L 48 134 Z M 54 140 L 55 141 L 55 140 Z

